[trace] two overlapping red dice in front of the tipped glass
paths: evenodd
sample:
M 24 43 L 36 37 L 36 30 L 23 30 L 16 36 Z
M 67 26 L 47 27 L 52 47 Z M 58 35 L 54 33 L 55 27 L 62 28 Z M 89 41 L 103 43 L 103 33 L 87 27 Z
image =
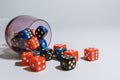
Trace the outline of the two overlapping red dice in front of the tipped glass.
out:
M 46 68 L 46 59 L 41 56 L 34 56 L 32 52 L 22 52 L 22 66 L 30 66 L 35 72 Z

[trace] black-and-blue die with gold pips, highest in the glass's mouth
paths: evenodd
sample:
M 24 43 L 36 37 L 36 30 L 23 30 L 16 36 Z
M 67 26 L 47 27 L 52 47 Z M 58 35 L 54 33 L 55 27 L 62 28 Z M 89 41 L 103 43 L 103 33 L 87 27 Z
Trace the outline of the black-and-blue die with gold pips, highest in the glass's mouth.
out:
M 44 26 L 39 26 L 35 30 L 35 35 L 38 37 L 38 39 L 43 38 L 48 33 L 48 30 Z

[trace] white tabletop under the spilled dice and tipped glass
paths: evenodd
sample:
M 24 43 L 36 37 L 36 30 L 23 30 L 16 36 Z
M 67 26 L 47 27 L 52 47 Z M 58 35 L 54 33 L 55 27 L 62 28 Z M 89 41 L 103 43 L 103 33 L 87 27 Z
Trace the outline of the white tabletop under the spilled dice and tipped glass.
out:
M 62 31 L 62 32 L 60 32 Z M 47 62 L 47 68 L 41 72 L 31 72 L 17 64 L 21 62 L 19 57 L 11 50 L 4 50 L 0 55 L 0 78 L 3 80 L 119 80 L 120 79 L 120 29 L 119 27 L 72 27 L 53 30 L 51 46 L 55 43 L 66 43 L 68 49 L 79 50 L 79 56 L 83 57 L 83 49 L 86 47 L 97 47 L 100 49 L 100 59 L 88 62 L 79 58 L 77 66 L 71 71 L 61 71 L 56 67 L 60 65 L 57 61 Z M 58 36 L 59 35 L 59 36 Z

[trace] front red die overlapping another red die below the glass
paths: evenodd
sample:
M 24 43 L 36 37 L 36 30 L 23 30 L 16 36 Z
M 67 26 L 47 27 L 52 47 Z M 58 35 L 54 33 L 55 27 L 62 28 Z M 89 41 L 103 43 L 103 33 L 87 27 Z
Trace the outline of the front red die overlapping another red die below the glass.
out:
M 46 59 L 41 56 L 35 56 L 30 59 L 29 64 L 32 70 L 38 72 L 46 68 Z

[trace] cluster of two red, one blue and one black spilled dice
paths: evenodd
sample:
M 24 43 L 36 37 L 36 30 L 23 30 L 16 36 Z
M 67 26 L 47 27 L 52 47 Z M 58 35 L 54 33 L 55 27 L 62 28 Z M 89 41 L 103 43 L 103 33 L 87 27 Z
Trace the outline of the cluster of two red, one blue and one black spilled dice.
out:
M 77 50 L 68 49 L 66 44 L 56 44 L 53 47 L 55 59 L 60 61 L 63 70 L 72 70 L 76 67 L 79 54 Z

